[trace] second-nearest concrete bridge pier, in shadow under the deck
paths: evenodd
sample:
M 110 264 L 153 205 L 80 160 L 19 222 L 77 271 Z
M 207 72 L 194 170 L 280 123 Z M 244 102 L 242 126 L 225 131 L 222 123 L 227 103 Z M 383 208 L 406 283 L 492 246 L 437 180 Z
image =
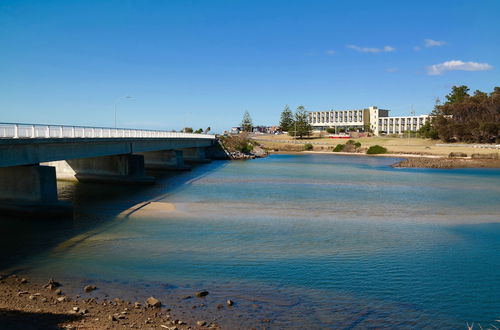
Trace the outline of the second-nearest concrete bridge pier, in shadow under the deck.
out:
M 144 156 L 116 155 L 67 161 L 82 182 L 154 183 L 144 172 Z

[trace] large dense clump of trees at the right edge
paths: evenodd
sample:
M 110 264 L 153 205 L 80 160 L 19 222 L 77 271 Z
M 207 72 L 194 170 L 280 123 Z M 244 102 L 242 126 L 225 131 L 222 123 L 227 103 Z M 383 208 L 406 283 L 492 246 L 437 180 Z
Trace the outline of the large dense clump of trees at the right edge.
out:
M 446 99 L 444 104 L 436 101 L 431 123 L 421 128 L 423 137 L 445 142 L 500 142 L 500 87 L 489 94 L 476 90 L 470 95 L 467 86 L 453 86 Z

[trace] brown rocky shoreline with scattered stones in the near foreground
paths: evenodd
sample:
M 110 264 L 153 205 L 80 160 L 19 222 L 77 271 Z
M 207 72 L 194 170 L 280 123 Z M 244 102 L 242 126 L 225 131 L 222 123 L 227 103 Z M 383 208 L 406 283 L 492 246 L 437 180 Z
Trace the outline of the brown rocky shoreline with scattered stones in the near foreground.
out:
M 120 298 L 82 298 L 66 295 L 61 283 L 46 284 L 10 275 L 0 276 L 0 328 L 2 329 L 220 329 L 216 322 L 198 320 L 188 324 L 171 315 L 160 300 L 149 297 L 143 302 Z M 82 288 L 82 295 L 96 290 Z M 202 298 L 207 291 L 193 293 Z M 227 306 L 233 302 L 228 300 Z

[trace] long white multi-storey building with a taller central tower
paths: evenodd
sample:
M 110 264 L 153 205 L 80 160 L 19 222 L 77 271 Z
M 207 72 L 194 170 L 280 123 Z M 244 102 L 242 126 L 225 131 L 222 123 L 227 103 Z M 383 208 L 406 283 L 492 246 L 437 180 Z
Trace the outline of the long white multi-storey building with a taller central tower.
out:
M 334 128 L 348 131 L 355 129 L 360 132 L 370 130 L 376 135 L 403 134 L 407 131 L 416 132 L 428 120 L 428 115 L 390 117 L 389 110 L 368 107 L 360 110 L 329 110 L 309 112 L 309 123 L 316 131 Z

